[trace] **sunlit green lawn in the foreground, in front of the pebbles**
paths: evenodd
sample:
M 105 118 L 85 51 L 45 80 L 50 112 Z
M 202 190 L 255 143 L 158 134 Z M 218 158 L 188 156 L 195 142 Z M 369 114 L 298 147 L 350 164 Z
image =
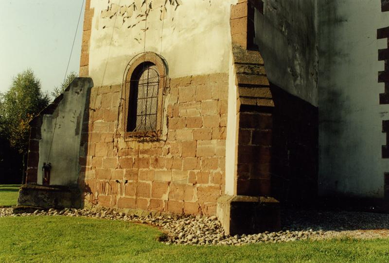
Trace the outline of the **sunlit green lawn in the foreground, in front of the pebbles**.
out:
M 388 240 L 299 241 L 192 247 L 156 241 L 159 230 L 84 217 L 0 218 L 0 262 L 388 262 Z

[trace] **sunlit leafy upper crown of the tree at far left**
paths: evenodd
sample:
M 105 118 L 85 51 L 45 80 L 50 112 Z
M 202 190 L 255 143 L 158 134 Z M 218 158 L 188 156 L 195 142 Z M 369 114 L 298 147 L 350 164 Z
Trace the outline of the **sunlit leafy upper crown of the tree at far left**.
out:
M 0 97 L 0 134 L 12 148 L 26 153 L 30 127 L 28 123 L 49 104 L 49 96 L 42 93 L 40 81 L 31 69 L 19 73 L 10 89 Z

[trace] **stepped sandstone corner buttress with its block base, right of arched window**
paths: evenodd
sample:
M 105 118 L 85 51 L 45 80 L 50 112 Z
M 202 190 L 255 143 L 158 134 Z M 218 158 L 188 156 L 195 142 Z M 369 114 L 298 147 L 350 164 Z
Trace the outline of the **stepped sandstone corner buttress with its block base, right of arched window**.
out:
M 240 0 L 231 7 L 230 74 L 234 78 L 230 77 L 230 81 L 235 83 L 230 83 L 230 87 L 236 86 L 237 107 L 235 113 L 229 112 L 236 115 L 236 125 L 227 129 L 236 129 L 235 164 L 233 176 L 226 176 L 226 186 L 233 184 L 233 188 L 226 188 L 226 195 L 218 199 L 217 206 L 217 216 L 230 235 L 281 228 L 280 203 L 271 197 L 274 102 L 263 58 L 252 44 L 253 10 L 262 5 L 252 2 Z M 229 103 L 233 99 L 229 98 Z

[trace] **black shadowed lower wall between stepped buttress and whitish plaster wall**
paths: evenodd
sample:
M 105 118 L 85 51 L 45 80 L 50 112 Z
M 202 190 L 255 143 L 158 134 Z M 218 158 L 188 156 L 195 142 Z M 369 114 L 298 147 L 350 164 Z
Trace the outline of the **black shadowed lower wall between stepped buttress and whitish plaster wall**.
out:
M 274 101 L 272 193 L 284 205 L 318 196 L 318 108 L 270 83 Z

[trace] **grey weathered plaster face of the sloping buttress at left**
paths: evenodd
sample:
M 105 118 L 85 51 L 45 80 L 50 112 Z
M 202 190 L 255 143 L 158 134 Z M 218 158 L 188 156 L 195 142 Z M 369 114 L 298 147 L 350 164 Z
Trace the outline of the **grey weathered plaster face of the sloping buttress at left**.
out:
M 76 185 L 80 172 L 81 128 L 90 79 L 77 78 L 64 92 L 53 115 L 43 115 L 39 141 L 38 184 L 43 163 L 51 163 L 50 185 Z

